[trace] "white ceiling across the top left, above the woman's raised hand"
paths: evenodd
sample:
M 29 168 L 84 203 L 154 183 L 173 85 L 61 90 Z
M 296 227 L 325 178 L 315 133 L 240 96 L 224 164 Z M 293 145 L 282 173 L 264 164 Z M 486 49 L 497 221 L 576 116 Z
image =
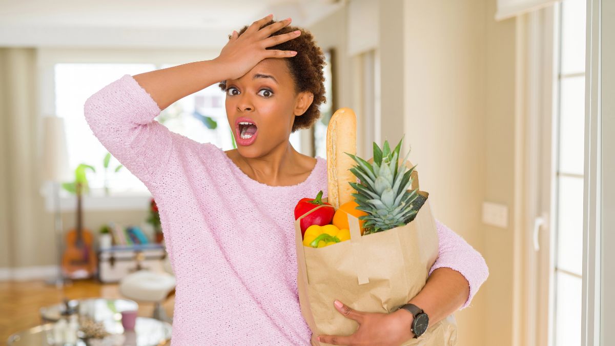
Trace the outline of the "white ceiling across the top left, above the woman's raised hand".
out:
M 309 26 L 346 0 L 0 0 L 0 46 L 220 47 L 274 14 Z

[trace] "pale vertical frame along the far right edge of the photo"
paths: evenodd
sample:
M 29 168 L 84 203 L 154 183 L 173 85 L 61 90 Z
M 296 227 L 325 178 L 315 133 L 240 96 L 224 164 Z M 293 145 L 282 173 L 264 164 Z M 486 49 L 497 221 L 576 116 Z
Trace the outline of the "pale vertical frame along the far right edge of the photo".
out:
M 615 344 L 614 22 L 613 1 L 587 0 L 582 346 Z

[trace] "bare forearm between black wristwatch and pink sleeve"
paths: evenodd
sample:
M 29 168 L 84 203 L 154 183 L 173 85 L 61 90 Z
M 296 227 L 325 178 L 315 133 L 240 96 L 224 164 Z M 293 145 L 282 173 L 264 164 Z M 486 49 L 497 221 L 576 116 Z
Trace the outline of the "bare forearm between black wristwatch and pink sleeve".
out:
M 470 294 L 469 283 L 461 273 L 451 268 L 438 268 L 427 278 L 427 283 L 411 304 L 422 308 L 433 325 L 456 312 Z

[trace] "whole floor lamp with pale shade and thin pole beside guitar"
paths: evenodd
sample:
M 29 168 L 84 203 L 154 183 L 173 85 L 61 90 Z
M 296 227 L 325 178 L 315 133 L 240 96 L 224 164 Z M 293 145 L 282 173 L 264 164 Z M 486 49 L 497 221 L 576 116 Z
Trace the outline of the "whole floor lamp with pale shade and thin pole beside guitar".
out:
M 53 185 L 54 193 L 54 230 L 57 247 L 57 277 L 47 281 L 61 288 L 68 282 L 62 272 L 62 214 L 60 214 L 60 184 L 72 181 L 74 176 L 68 168 L 68 150 L 64 132 L 64 119 L 58 116 L 43 118 L 42 178 Z

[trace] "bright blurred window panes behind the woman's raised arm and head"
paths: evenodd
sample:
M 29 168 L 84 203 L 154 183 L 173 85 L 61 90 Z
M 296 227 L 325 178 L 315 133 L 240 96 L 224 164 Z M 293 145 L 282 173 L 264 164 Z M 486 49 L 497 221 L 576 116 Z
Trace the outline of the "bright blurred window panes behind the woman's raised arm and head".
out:
M 122 168 L 115 172 L 119 163 L 114 158 L 111 158 L 108 171 L 105 172 L 103 160 L 108 151 L 94 137 L 85 121 L 85 100 L 124 74 L 135 75 L 176 65 L 179 64 L 54 64 L 55 114 L 65 119 L 69 165 L 71 169 L 81 163 L 95 167 L 95 172 L 88 173 L 92 196 L 105 195 L 105 187 L 108 187 L 109 195 L 115 196 L 149 195 L 149 192 L 127 169 Z M 224 92 L 218 84 L 178 100 L 165 108 L 155 120 L 167 126 L 170 131 L 185 135 L 196 142 L 210 142 L 223 150 L 234 147 L 224 109 Z M 301 151 L 299 131 L 290 136 L 290 142 L 297 151 Z

